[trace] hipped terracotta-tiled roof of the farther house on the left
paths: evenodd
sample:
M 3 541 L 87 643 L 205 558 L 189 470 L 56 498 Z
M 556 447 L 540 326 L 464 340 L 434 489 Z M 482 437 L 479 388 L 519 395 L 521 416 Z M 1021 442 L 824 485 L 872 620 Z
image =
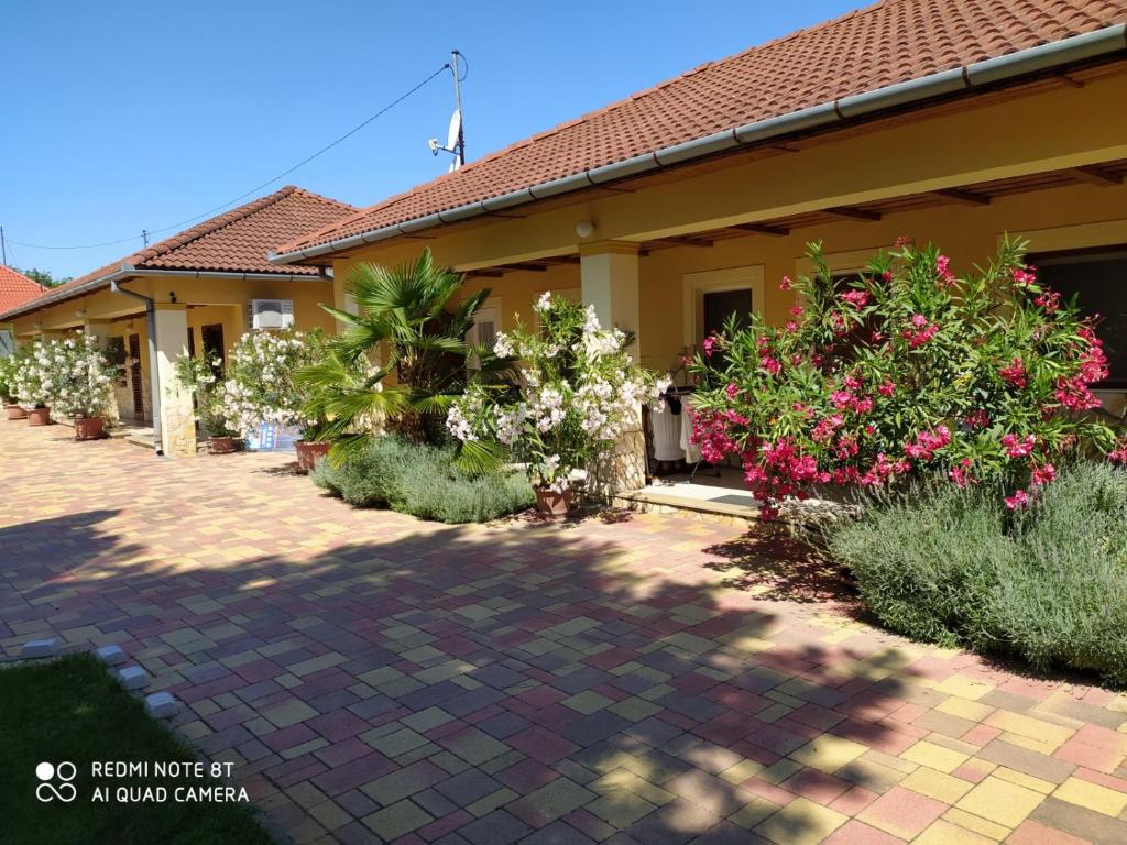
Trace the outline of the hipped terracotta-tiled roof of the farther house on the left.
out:
M 208 273 L 266 273 L 277 276 L 316 277 L 316 267 L 278 267 L 267 260 L 275 244 L 301 232 L 323 226 L 356 211 L 356 206 L 287 185 L 269 196 L 186 229 L 131 256 L 107 264 L 53 287 L 19 308 L 3 308 L 0 318 L 27 313 L 109 284 L 123 268 L 142 275 L 145 270 L 195 270 Z M 38 290 L 37 290 L 38 293 Z

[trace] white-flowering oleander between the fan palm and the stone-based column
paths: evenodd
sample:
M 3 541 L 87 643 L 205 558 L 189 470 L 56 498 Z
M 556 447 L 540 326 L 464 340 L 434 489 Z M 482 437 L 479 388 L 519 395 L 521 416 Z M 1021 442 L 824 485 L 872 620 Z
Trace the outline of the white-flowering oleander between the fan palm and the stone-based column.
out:
M 497 335 L 494 353 L 523 362 L 515 390 L 472 384 L 446 416 L 462 442 L 496 441 L 526 462 L 533 484 L 564 492 L 580 483 L 637 425 L 654 376 L 633 363 L 620 329 L 595 309 L 545 293 L 534 305 L 540 331 Z

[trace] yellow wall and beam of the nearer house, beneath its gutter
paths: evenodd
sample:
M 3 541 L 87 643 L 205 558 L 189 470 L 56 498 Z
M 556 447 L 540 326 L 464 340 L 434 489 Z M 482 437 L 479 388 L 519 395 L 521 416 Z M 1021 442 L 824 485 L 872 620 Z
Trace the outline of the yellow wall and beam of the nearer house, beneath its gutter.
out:
M 1124 159 L 1125 66 L 1097 69 L 1079 88 L 1059 81 L 1039 82 L 988 99 L 970 99 L 959 107 L 921 112 L 911 121 L 875 123 L 831 135 L 798 151 L 777 151 L 755 159 L 737 157 L 727 164 L 713 162 L 672 171 L 659 184 L 639 185 L 631 192 L 588 192 L 564 206 L 525 206 L 513 210 L 514 217 L 480 220 L 461 229 L 432 229 L 425 240 L 399 238 L 371 244 L 334 263 L 335 297 L 338 304 L 344 302 L 343 285 L 356 263 L 414 259 L 424 246 L 440 263 L 472 270 L 575 254 L 580 246 L 575 226 L 580 221 L 595 224 L 595 234 L 588 240 L 639 242 Z M 985 260 L 1004 231 L 1098 221 L 1112 221 L 1111 229 L 1119 231 L 1125 220 L 1127 187 L 1085 184 L 1014 194 L 983 207 L 949 204 L 890 213 L 879 222 L 843 220 L 798 229 L 781 238 L 749 235 L 718 241 L 709 249 L 654 250 L 640 259 L 637 328 L 641 358 L 650 367 L 665 370 L 682 352 L 683 277 L 687 273 L 762 266 L 765 302 L 761 304 L 765 317 L 780 323 L 792 297 L 778 290 L 778 281 L 783 274 L 796 274 L 807 241 L 823 240 L 829 254 L 872 252 L 906 234 L 941 244 L 958 269 Z M 1127 230 L 1122 241 L 1127 241 Z M 1031 248 L 1036 250 L 1038 244 Z M 855 257 L 850 258 L 855 261 Z M 541 291 L 579 287 L 579 268 L 561 265 L 545 273 L 508 273 L 502 278 L 467 282 L 468 293 L 480 287 L 490 287 L 500 299 L 507 329 L 514 312 L 529 319 Z

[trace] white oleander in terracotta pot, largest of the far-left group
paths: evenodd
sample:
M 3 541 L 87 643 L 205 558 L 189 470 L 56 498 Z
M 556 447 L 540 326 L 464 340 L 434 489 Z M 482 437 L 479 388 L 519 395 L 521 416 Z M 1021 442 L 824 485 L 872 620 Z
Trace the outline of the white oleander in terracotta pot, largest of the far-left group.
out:
M 114 370 L 106 363 L 92 335 L 69 337 L 50 345 L 55 373 L 55 409 L 74 420 L 74 439 L 98 439 L 105 432 L 105 413 L 113 390 Z

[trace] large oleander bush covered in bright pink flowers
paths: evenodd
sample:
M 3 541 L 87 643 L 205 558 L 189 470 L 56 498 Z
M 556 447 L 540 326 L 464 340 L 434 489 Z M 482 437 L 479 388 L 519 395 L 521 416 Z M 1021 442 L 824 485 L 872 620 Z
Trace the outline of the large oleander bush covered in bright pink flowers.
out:
M 939 473 L 956 487 L 1008 484 L 1020 509 L 1075 453 L 1127 456 L 1093 415 L 1107 377 L 1092 321 L 1037 281 L 1024 243 L 982 269 L 903 239 L 835 279 L 820 244 L 811 276 L 783 278 L 784 326 L 757 315 L 706 339 L 693 438 L 704 459 L 739 456 L 770 516 L 819 486 L 885 488 Z

